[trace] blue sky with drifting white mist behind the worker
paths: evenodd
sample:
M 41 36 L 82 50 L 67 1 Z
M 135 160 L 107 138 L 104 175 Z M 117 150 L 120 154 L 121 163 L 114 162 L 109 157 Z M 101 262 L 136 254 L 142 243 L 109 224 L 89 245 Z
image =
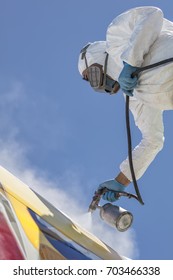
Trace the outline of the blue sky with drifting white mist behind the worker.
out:
M 104 40 L 118 14 L 142 5 L 173 20 L 166 1 L 0 2 L 0 164 L 82 224 L 98 184 L 119 172 L 127 142 L 122 93 L 92 91 L 78 73 L 79 51 Z M 172 114 L 164 113 L 164 149 L 138 182 L 145 205 L 119 202 L 134 215 L 132 229 L 117 233 L 97 217 L 98 228 L 92 224 L 130 258 L 173 259 Z M 133 121 L 131 129 L 136 145 Z

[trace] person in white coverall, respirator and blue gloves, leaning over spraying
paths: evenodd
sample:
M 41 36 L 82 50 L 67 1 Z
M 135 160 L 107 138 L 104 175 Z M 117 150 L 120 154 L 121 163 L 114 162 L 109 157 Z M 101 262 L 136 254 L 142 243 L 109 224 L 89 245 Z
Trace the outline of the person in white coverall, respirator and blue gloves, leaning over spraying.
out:
M 138 76 L 139 68 L 173 57 L 173 23 L 152 6 L 137 7 L 117 16 L 108 26 L 105 41 L 87 44 L 79 55 L 78 69 L 96 91 L 130 96 L 129 108 L 142 134 L 132 151 L 138 180 L 164 144 L 163 111 L 173 109 L 173 63 Z M 128 157 L 114 179 L 99 185 L 107 188 L 103 199 L 115 201 L 115 192 L 126 191 L 132 182 Z

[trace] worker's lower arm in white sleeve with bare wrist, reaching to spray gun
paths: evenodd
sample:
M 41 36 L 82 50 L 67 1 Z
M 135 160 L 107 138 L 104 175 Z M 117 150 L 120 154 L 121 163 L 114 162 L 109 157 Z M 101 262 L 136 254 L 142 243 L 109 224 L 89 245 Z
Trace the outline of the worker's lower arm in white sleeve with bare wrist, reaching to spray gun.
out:
M 140 103 L 135 98 L 130 98 L 130 109 L 135 123 L 142 133 L 141 142 L 132 151 L 134 171 L 136 179 L 139 179 L 163 147 L 163 113 Z M 128 158 L 121 163 L 120 171 L 119 183 L 128 184 L 128 180 L 132 181 Z

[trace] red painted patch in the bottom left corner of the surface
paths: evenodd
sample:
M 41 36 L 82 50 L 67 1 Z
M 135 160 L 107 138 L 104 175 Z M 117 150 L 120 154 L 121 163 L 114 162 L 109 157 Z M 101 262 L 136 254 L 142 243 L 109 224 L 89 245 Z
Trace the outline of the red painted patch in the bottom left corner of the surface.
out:
M 19 245 L 4 215 L 0 212 L 0 260 L 23 260 Z

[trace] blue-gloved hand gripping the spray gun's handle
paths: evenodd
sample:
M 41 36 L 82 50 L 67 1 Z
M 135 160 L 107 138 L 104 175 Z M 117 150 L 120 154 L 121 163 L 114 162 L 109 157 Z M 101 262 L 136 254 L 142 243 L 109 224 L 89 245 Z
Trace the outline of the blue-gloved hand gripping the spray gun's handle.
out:
M 104 200 L 108 200 L 110 202 L 114 202 L 116 201 L 118 198 L 116 197 L 116 191 L 121 191 L 123 192 L 125 189 L 125 186 L 118 183 L 115 179 L 113 180 L 109 180 L 106 182 L 103 182 L 99 185 L 99 190 L 103 189 L 103 188 L 107 188 L 108 191 L 106 193 L 103 194 L 102 198 Z

